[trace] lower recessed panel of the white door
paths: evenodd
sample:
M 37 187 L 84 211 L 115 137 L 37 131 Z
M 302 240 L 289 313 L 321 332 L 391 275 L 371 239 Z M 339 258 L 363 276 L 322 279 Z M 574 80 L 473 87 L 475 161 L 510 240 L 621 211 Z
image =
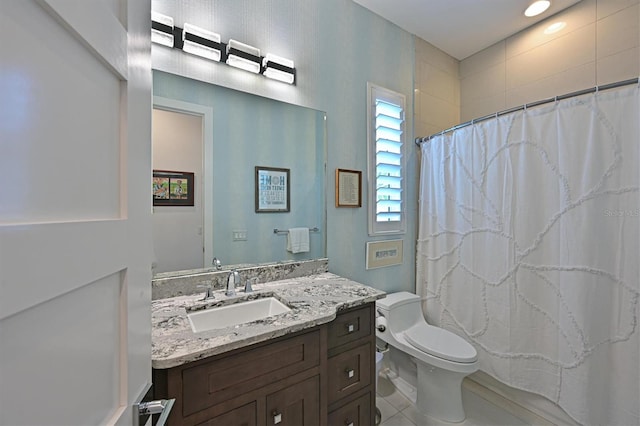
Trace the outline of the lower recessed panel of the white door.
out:
M 2 400 L 31 401 L 58 424 L 80 424 L 79 413 L 87 425 L 109 420 L 120 405 L 120 354 L 113 348 L 121 338 L 121 287 L 114 274 L 5 319 L 0 341 L 10 344 L 2 350 Z M 14 415 L 3 415 L 2 424 L 29 424 L 28 411 Z

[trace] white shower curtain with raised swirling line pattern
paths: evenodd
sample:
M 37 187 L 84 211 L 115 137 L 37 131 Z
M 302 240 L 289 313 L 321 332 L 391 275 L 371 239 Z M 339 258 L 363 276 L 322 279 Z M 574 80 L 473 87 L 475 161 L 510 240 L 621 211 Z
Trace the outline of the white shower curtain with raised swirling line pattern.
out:
M 417 291 L 480 369 L 640 424 L 640 98 L 596 92 L 422 144 Z

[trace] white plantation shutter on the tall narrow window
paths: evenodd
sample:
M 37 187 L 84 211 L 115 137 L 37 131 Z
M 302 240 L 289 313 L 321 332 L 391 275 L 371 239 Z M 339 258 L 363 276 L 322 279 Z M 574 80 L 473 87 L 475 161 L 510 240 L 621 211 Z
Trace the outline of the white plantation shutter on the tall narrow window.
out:
M 369 235 L 405 231 L 403 95 L 367 85 Z

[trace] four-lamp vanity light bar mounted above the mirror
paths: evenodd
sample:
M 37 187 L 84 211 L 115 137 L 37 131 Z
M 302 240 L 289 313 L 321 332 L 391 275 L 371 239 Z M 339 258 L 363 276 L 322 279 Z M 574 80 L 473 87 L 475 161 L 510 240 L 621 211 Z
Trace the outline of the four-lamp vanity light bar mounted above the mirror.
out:
M 176 27 L 172 17 L 154 11 L 151 11 L 151 41 L 273 80 L 296 83 L 296 69 L 291 59 L 271 53 L 263 57 L 259 48 L 234 39 L 222 43 L 220 34 L 193 24 Z

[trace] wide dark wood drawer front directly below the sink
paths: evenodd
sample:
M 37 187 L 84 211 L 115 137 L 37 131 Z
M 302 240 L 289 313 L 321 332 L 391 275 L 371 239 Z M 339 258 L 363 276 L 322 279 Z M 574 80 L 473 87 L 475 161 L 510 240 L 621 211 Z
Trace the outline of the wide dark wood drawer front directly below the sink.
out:
M 182 371 L 182 415 L 188 416 L 320 363 L 320 332 L 281 340 Z

